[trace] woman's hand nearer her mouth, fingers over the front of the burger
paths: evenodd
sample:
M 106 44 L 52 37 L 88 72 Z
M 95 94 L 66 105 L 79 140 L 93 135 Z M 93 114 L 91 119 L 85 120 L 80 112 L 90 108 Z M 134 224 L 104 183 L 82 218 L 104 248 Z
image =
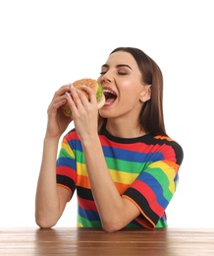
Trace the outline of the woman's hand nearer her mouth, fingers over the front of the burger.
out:
M 98 109 L 94 90 L 82 87 L 86 95 L 75 88 L 67 94 L 67 101 L 72 109 L 76 130 L 81 142 L 97 136 Z

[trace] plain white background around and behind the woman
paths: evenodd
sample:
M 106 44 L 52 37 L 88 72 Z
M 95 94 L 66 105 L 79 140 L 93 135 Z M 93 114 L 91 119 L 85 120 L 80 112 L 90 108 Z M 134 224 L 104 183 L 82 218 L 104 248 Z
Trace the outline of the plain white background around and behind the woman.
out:
M 76 79 L 97 78 L 114 48 L 134 46 L 162 69 L 167 132 L 185 152 L 168 224 L 214 227 L 212 5 L 0 1 L 0 226 L 36 226 L 34 196 L 54 92 Z M 76 225 L 76 204 L 68 204 L 57 226 Z

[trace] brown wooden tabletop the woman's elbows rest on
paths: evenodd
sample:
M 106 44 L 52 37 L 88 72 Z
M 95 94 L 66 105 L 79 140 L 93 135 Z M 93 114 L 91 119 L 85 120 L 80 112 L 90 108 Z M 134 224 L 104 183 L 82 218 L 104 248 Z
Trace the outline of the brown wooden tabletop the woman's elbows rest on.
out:
M 214 228 L 0 228 L 0 255 L 214 255 Z

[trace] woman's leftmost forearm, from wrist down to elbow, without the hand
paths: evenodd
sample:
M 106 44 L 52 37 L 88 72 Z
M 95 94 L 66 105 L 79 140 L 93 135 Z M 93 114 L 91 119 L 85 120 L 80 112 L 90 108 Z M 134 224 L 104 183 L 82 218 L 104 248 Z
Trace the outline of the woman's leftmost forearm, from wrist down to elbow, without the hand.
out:
M 51 225 L 58 220 L 59 198 L 56 185 L 58 140 L 44 139 L 43 155 L 35 198 L 35 219 L 39 225 Z

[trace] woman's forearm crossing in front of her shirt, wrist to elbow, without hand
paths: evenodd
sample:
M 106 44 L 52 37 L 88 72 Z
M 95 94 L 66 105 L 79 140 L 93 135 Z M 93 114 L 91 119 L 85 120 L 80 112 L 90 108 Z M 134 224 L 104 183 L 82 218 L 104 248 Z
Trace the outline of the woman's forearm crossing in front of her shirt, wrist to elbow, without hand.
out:
M 83 145 L 93 197 L 102 226 L 108 231 L 120 229 L 130 221 L 127 200 L 119 194 L 104 159 L 99 138 Z

